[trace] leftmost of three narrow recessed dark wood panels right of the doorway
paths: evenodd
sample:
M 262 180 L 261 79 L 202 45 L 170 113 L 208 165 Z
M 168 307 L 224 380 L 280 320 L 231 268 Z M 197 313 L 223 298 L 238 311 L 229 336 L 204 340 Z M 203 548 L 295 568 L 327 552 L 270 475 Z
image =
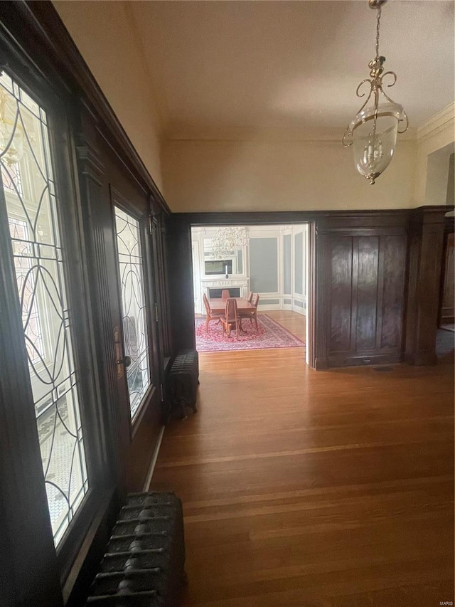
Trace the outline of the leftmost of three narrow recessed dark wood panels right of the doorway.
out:
M 331 242 L 331 330 L 330 352 L 349 352 L 353 280 L 353 238 Z

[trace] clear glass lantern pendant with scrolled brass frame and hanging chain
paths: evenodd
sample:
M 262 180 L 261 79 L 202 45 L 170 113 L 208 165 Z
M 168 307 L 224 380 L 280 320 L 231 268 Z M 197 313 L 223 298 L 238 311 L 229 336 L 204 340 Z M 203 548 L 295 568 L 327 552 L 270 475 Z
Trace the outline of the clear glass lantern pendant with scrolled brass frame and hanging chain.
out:
M 371 9 L 376 9 L 376 56 L 368 63 L 370 78 L 365 78 L 358 85 L 356 94 L 358 97 L 368 97 L 360 107 L 358 113 L 350 121 L 345 134 L 343 145 L 353 146 L 355 168 L 363 175 L 370 184 L 387 169 L 397 144 L 397 133 L 407 130 L 408 120 L 402 105 L 395 103 L 384 93 L 382 80 L 390 76 L 391 82 L 387 87 L 392 87 L 397 81 L 395 72 L 384 72 L 385 57 L 379 54 L 379 26 L 381 18 L 381 7 L 387 0 L 369 0 Z M 365 85 L 365 86 L 364 86 Z M 360 89 L 366 92 L 360 93 Z M 368 105 L 370 104 L 370 105 Z M 399 124 L 401 129 L 398 128 Z

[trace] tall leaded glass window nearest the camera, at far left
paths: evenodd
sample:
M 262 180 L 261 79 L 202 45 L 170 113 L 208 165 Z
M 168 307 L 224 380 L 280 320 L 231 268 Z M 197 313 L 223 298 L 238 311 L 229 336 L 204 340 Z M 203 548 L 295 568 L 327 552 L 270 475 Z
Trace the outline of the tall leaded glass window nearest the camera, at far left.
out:
M 87 493 L 65 245 L 42 107 L 0 76 L 0 165 L 55 545 Z M 26 479 L 24 479 L 26 482 Z

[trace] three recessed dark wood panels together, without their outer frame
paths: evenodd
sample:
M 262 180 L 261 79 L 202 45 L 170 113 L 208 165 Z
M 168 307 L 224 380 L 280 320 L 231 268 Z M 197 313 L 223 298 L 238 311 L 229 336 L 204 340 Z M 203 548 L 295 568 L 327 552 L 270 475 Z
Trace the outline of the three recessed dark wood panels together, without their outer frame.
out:
M 380 354 L 384 329 L 387 347 L 400 348 L 405 243 L 405 235 L 331 238 L 329 357 Z

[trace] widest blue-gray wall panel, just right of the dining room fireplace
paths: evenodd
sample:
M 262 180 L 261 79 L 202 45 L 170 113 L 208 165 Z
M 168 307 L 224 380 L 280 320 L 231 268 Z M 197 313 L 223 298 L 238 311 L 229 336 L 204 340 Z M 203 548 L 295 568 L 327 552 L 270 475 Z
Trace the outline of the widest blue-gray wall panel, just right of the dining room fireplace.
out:
M 278 238 L 250 238 L 250 285 L 254 293 L 278 291 Z

